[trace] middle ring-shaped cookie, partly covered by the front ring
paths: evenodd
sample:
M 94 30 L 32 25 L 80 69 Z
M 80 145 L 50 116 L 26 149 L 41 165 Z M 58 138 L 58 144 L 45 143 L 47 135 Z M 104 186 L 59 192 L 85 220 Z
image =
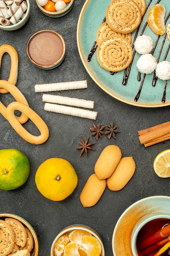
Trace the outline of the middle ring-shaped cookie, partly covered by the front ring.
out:
M 5 89 L 8 92 L 10 92 L 16 101 L 22 102 L 28 106 L 28 102 L 27 102 L 26 98 L 24 97 L 24 95 L 22 94 L 22 92 L 20 92 L 20 90 L 12 83 L 10 83 L 6 80 L 0 80 L 0 88 Z M 4 116 L 4 118 L 6 118 L 8 120 L 7 108 L 4 106 L 4 104 L 2 104 L 1 101 L 0 101 L 0 113 Z M 24 124 L 24 123 L 26 123 L 26 121 L 28 121 L 28 117 L 26 115 L 24 115 L 24 113 L 21 113 L 21 115 L 19 117 L 15 115 L 15 117 L 20 122 L 20 124 Z

